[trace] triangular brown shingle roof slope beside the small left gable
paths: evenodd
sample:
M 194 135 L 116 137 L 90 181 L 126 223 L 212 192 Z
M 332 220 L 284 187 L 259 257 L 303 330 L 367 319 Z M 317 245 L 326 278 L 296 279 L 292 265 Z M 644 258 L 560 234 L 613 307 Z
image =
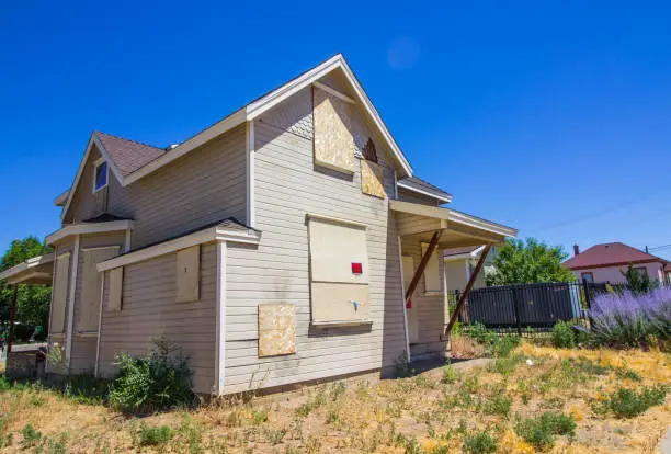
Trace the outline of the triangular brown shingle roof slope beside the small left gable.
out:
M 147 166 L 155 159 L 160 158 L 168 151 L 163 148 L 128 140 L 110 134 L 94 132 L 100 143 L 105 148 L 110 159 L 123 177 L 127 177 L 136 170 Z

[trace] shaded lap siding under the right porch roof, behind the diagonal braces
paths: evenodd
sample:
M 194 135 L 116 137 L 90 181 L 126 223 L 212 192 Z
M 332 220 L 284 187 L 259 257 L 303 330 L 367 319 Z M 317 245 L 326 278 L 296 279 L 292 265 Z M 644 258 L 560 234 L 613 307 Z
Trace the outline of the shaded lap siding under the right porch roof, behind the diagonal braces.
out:
M 422 249 L 419 241 L 403 239 L 401 242 L 403 256 L 412 257 L 417 269 L 422 260 Z M 440 256 L 440 254 L 439 254 Z M 443 282 L 443 263 L 439 261 L 441 273 L 441 285 Z M 412 296 L 412 308 L 417 310 L 417 321 L 419 325 L 419 338 L 417 344 L 410 347 L 412 354 L 441 352 L 445 349 L 445 343 L 441 341 L 441 336 L 445 328 L 445 299 L 441 295 L 422 295 L 424 290 L 424 279 L 420 280 L 417 291 Z

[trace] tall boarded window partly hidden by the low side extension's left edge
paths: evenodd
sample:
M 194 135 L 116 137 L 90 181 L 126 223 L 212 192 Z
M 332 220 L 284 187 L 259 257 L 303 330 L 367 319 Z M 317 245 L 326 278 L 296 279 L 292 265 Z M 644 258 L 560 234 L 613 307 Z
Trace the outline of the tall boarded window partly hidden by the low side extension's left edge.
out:
M 83 270 L 81 274 L 81 294 L 77 330 L 80 332 L 96 331 L 100 315 L 100 285 L 98 263 L 110 260 L 118 254 L 118 247 L 83 250 Z

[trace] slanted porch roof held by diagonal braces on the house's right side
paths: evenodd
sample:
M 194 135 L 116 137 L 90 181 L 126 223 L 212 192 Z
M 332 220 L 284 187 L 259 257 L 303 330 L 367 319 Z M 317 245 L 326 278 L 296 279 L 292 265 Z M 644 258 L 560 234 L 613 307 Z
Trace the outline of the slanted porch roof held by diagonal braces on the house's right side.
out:
M 442 230 L 439 249 L 501 243 L 518 235 L 518 230 L 481 217 L 450 208 L 418 203 L 389 201 L 396 212 L 399 235 L 420 242 L 430 242 Z

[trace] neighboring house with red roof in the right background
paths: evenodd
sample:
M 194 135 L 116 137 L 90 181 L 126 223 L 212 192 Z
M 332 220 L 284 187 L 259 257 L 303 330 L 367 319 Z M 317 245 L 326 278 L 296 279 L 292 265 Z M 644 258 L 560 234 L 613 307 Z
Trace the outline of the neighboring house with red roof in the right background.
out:
M 573 257 L 562 264 L 587 282 L 624 282 L 623 273 L 629 265 L 646 273 L 650 281 L 669 282 L 671 277 L 669 261 L 622 242 L 594 245 L 583 252 L 575 245 Z

